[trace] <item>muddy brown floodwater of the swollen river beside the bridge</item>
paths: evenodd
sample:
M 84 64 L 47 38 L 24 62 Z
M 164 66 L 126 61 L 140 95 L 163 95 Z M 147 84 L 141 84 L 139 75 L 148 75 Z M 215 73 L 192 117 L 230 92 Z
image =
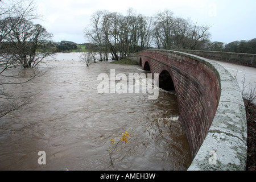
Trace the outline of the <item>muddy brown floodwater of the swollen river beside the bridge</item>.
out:
M 106 62 L 86 67 L 72 55 L 40 64 L 46 73 L 22 86 L 31 103 L 0 118 L 0 170 L 186 170 L 187 137 L 177 120 L 175 92 L 101 94 L 100 73 L 147 73 L 137 65 Z M 27 72 L 23 69 L 22 72 Z M 136 84 L 136 83 L 135 83 Z M 138 84 L 138 83 L 137 83 Z M 136 85 L 134 85 L 136 86 Z M 172 122 L 171 122 L 172 121 Z M 110 161 L 111 139 L 122 133 Z M 39 164 L 39 151 L 46 164 Z

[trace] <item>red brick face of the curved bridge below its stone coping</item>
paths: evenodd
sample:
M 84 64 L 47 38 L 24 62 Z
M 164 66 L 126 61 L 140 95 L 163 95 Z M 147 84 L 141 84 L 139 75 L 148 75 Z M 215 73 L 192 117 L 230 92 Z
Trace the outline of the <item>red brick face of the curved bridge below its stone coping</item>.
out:
M 160 75 L 164 70 L 170 73 L 179 104 L 179 120 L 194 158 L 218 107 L 221 93 L 218 72 L 207 62 L 168 51 L 142 51 L 137 59 L 142 68 L 147 61 L 151 73 Z

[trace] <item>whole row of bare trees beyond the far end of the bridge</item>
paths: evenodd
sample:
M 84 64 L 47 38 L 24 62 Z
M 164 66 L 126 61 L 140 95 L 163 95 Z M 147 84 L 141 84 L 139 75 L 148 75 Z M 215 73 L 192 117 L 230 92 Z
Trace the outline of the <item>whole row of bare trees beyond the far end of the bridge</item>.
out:
M 96 11 L 84 35 L 101 60 L 122 59 L 127 54 L 150 47 L 159 49 L 205 49 L 210 42 L 209 25 L 199 26 L 190 19 L 175 17 L 172 11 L 154 17 L 129 9 L 126 15 Z

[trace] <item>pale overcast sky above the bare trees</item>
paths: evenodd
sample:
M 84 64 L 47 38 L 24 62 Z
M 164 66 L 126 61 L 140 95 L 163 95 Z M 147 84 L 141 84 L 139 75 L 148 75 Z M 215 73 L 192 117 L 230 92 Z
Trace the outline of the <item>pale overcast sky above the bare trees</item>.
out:
M 174 16 L 210 24 L 211 40 L 230 43 L 256 38 L 255 0 L 35 0 L 43 20 L 36 23 L 51 32 L 54 42 L 69 40 L 85 43 L 83 30 L 97 10 L 126 15 L 131 7 L 137 13 L 154 16 L 171 10 Z

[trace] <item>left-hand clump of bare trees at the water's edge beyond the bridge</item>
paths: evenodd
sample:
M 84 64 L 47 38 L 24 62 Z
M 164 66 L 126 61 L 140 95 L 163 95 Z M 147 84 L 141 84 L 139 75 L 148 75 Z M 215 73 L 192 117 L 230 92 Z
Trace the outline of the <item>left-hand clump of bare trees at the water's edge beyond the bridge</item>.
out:
M 150 46 L 152 18 L 137 15 L 133 9 L 129 9 L 126 16 L 97 11 L 91 21 L 92 26 L 85 30 L 85 37 L 104 54 L 104 60 L 108 60 L 109 53 L 113 60 L 118 60 Z

